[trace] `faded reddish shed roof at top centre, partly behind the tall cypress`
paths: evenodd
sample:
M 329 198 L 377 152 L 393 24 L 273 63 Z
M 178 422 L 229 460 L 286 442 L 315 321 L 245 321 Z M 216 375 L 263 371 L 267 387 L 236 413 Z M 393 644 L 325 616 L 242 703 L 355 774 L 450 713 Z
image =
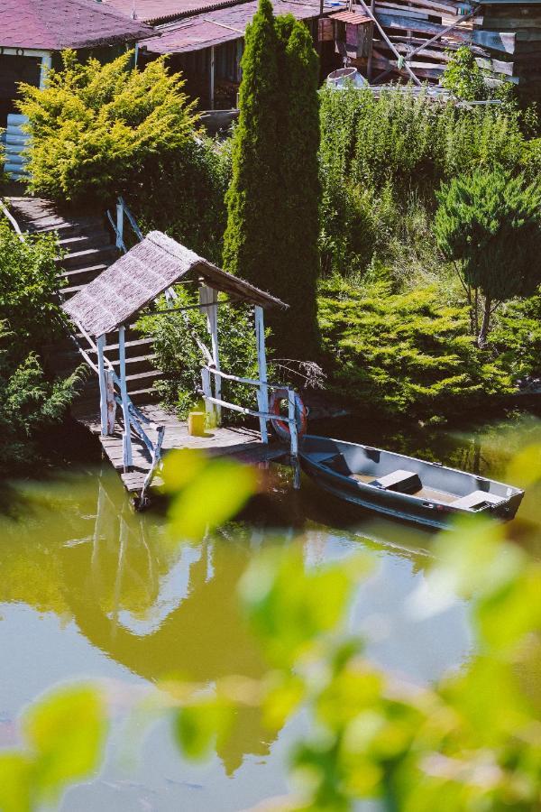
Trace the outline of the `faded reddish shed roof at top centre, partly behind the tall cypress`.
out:
M 293 14 L 297 20 L 313 19 L 319 15 L 318 3 L 272 0 L 275 14 Z M 179 23 L 160 29 L 161 36 L 145 42 L 151 53 L 185 53 L 201 51 L 221 42 L 239 40 L 258 9 L 257 0 L 222 8 L 214 12 L 201 12 Z

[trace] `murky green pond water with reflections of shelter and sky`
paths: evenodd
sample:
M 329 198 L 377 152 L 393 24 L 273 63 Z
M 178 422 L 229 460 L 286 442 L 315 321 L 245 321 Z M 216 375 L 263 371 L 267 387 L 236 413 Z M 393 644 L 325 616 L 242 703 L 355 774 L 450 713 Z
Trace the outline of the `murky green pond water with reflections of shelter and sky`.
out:
M 541 441 L 532 417 L 451 433 L 387 434 L 335 424 L 359 439 L 501 478 L 525 442 Z M 328 427 L 326 427 L 327 433 Z M 266 493 L 243 516 L 196 546 L 173 543 L 163 514 L 134 514 L 113 471 L 77 469 L 5 489 L 0 512 L 0 747 L 17 742 L 17 716 L 52 685 L 97 678 L 113 697 L 113 736 L 95 780 L 70 789 L 69 812 L 212 810 L 237 812 L 287 789 L 285 762 L 305 731 L 297 715 L 273 740 L 256 710 L 236 717 L 227 746 L 203 765 L 183 761 L 167 720 L 128 757 L 128 708 L 149 687 L 182 674 L 212 687 L 217 678 L 264 673 L 257 641 L 239 615 L 235 586 L 255 550 L 298 540 L 306 566 L 376 559 L 350 615 L 367 651 L 385 669 L 427 683 L 472 654 L 467 606 L 419 621 L 410 596 L 423 586 L 432 536 L 377 520 L 327 497 L 289 469 L 271 466 Z M 527 493 L 518 519 L 541 521 L 541 494 Z M 134 735 L 135 733 L 135 735 Z M 139 750 L 134 746 L 135 751 Z

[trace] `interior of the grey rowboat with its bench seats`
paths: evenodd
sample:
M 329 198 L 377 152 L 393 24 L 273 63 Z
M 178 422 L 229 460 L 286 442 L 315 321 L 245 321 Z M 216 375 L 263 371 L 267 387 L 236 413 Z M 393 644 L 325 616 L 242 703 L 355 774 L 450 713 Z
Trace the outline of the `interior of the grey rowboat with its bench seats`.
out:
M 506 502 L 516 492 L 508 485 L 481 476 L 379 448 L 308 440 L 303 452 L 317 465 L 359 484 L 417 497 L 424 502 L 452 505 L 455 509 L 483 510 Z

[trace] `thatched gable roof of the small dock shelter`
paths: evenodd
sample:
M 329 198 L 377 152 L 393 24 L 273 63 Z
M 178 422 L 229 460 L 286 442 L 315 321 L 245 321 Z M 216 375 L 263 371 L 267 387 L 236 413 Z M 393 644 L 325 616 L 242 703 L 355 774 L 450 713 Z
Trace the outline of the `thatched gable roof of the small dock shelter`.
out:
M 151 233 L 62 305 L 91 336 L 120 327 L 160 293 L 186 277 L 202 277 L 216 291 L 263 308 L 288 307 L 231 273 L 197 256 L 160 231 Z

